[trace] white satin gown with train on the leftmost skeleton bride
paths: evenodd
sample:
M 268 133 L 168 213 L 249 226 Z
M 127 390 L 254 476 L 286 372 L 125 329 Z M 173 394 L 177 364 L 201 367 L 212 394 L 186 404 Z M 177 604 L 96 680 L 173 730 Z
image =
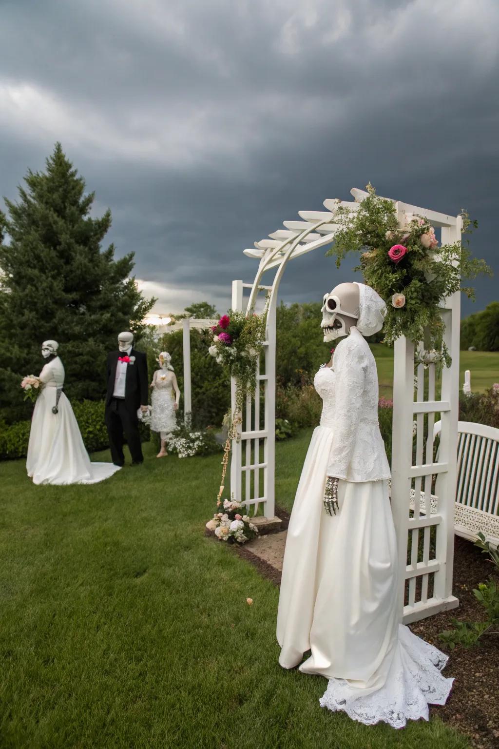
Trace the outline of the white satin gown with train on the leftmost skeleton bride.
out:
M 57 389 L 64 385 L 64 366 L 55 357 L 40 372 L 43 388 L 34 405 L 26 470 L 34 484 L 96 484 L 120 470 L 112 463 L 91 463 L 70 401 Z

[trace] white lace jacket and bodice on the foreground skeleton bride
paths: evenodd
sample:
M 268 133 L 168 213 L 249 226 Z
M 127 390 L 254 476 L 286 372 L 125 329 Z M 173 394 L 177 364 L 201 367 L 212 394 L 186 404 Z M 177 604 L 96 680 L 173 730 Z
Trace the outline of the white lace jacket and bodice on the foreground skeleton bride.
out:
M 319 369 L 313 384 L 322 398 L 320 425 L 334 432 L 328 476 L 355 482 L 388 479 L 376 362 L 356 328 L 337 345 L 332 368 Z

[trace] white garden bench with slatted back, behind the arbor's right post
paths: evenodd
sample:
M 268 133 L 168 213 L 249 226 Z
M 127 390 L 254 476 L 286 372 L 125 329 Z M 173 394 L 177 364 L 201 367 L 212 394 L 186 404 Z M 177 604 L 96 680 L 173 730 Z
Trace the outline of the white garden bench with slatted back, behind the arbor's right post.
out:
M 435 423 L 433 439 L 440 434 Z M 478 533 L 499 545 L 499 429 L 474 422 L 458 422 L 457 488 L 454 532 L 476 541 Z M 414 490 L 411 491 L 411 509 Z M 431 512 L 438 512 L 438 497 L 431 497 Z M 421 492 L 420 513 L 425 514 Z

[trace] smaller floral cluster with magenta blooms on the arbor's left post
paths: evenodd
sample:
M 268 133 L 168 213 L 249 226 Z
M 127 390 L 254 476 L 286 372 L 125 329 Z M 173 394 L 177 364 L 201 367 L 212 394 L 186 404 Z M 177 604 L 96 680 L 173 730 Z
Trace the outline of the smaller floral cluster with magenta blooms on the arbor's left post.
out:
M 265 340 L 266 314 L 245 315 L 230 309 L 211 328 L 208 351 L 236 380 L 236 412 L 257 386 L 257 361 Z

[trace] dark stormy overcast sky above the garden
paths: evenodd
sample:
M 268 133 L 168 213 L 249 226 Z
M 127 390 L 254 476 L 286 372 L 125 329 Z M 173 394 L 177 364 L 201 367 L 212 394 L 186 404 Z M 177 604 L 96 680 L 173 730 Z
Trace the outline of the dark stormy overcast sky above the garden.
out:
M 0 0 L 1 194 L 60 140 L 156 311 L 222 311 L 245 247 L 371 181 L 478 219 L 468 314 L 499 299 L 498 33 L 498 0 Z M 281 298 L 352 264 L 297 259 Z

